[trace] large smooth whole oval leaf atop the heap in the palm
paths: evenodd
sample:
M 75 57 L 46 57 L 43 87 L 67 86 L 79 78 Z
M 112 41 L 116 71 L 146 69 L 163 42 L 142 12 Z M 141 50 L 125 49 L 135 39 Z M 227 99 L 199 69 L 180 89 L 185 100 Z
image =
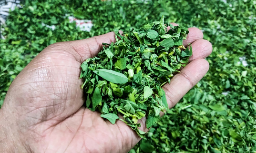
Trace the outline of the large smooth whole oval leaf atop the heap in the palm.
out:
M 119 84 L 124 84 L 128 82 L 128 78 L 124 74 L 113 71 L 113 70 L 98 69 L 93 72 L 109 82 L 119 83 Z

